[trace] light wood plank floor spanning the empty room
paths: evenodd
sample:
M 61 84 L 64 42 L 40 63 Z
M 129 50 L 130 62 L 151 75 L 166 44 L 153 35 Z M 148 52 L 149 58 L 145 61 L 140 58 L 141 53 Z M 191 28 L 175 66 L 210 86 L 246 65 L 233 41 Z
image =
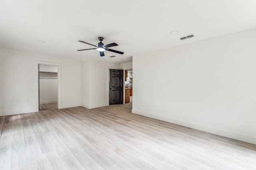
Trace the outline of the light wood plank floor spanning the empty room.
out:
M 0 170 L 256 170 L 256 145 L 131 113 L 131 103 L 0 117 Z

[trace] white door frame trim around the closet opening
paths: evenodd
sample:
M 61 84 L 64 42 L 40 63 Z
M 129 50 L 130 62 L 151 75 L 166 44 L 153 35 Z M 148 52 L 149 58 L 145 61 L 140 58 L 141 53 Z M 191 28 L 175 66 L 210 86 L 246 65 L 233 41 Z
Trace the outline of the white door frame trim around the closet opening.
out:
M 60 108 L 61 106 L 61 64 L 60 63 L 50 63 L 50 62 L 45 62 L 45 61 L 36 61 L 35 63 L 35 73 L 36 73 L 36 82 L 35 82 L 35 86 L 36 86 L 36 101 L 35 101 L 35 106 L 37 108 L 37 110 L 39 111 L 38 109 L 38 99 L 39 99 L 39 94 L 38 94 L 38 79 L 39 79 L 39 70 L 38 70 L 38 64 L 45 64 L 45 65 L 54 65 L 54 66 L 58 66 L 58 109 Z

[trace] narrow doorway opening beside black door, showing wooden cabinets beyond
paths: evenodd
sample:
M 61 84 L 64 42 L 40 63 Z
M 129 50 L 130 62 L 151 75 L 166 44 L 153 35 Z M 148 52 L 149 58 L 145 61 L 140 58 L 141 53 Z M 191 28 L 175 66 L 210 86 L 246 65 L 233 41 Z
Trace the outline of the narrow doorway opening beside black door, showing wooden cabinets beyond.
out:
M 132 68 L 125 70 L 125 103 L 132 103 Z

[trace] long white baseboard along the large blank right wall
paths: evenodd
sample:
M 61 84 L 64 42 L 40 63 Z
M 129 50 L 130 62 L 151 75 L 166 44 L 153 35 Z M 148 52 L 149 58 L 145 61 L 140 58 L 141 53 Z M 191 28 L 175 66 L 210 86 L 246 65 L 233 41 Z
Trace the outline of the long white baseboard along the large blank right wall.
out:
M 239 141 L 244 141 L 247 143 L 252 143 L 254 145 L 256 145 L 256 137 L 252 137 L 252 136 L 248 136 L 248 135 L 243 135 L 243 134 L 239 134 L 239 133 L 234 133 L 234 132 L 230 132 L 230 131 L 226 131 L 223 129 L 217 129 L 214 127 L 208 127 L 205 125 L 199 125 L 196 123 L 192 123 L 192 122 L 187 122 L 187 121 L 182 121 L 179 119 L 173 119 L 171 117 L 164 117 L 164 116 L 160 116 L 160 115 L 156 115 L 154 113 L 147 113 L 144 111 L 140 111 L 137 109 L 132 109 L 132 113 L 138 114 L 138 115 L 143 115 L 146 117 L 151 117 L 154 119 L 158 119 L 158 120 L 162 120 L 162 121 L 167 121 L 170 123 L 174 123 L 177 125 L 182 125 L 182 126 L 186 126 L 186 127 L 190 127 L 193 129 L 198 129 L 200 131 L 205 131 L 205 132 L 209 132 L 209 133 L 213 133 L 216 135 L 220 135 L 220 136 L 224 136 L 224 137 L 228 137 L 228 138 L 232 138 L 232 139 L 236 139 Z

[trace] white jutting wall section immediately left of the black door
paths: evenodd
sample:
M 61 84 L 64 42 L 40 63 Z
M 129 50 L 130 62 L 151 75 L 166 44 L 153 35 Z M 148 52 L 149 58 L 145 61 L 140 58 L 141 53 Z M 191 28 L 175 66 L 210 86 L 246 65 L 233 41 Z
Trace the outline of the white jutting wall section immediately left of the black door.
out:
M 96 60 L 86 60 L 82 62 L 82 66 L 82 106 L 86 108 L 108 106 L 109 69 L 118 69 L 120 65 Z

